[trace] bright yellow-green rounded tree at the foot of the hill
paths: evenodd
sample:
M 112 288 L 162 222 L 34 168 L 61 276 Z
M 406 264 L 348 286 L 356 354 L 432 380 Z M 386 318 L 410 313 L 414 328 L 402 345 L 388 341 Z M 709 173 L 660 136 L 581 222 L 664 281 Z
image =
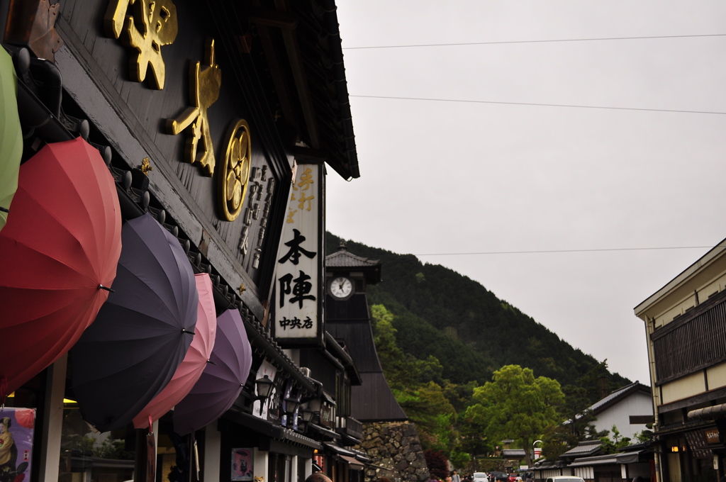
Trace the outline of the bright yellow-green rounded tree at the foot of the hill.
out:
M 525 449 L 531 465 L 529 448 L 549 425 L 560 422 L 559 412 L 565 401 L 560 383 L 547 377 L 534 377 L 529 368 L 507 365 L 494 372 L 492 381 L 474 389 L 472 406 L 465 414 L 486 427 L 494 440 L 513 438 Z

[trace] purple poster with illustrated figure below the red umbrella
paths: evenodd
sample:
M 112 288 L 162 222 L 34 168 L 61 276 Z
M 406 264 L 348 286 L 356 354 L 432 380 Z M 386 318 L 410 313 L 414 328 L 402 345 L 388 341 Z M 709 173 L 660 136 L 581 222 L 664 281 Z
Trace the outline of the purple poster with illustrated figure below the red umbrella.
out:
M 30 480 L 35 409 L 0 409 L 0 481 Z

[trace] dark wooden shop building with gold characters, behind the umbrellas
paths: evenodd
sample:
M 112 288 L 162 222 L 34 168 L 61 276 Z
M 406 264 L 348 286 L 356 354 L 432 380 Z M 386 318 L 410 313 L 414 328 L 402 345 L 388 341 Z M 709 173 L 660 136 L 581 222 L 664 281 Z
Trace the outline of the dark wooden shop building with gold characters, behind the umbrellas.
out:
M 156 480 L 192 480 L 195 464 L 199 480 L 234 480 L 237 449 L 248 449 L 252 475 L 303 480 L 329 439 L 298 425 L 297 412 L 293 421 L 284 399 L 319 413 L 337 404 L 345 418 L 349 387 L 361 381 L 335 340 L 301 355 L 269 328 L 295 169 L 325 163 L 359 176 L 335 2 L 0 1 L 0 22 L 18 77 L 23 162 L 82 136 L 113 174 L 123 219 L 151 213 L 194 271 L 210 274 L 218 314 L 242 315 L 253 364 L 239 399 L 192 437 L 196 462 L 192 438 L 176 438 L 166 418 L 155 424 Z M 6 401 L 38 411 L 30 481 L 142 480 L 142 430 L 97 434 L 70 417 L 68 363 L 63 356 Z M 275 390 L 256 411 L 264 370 Z M 108 446 L 118 453 L 103 453 Z

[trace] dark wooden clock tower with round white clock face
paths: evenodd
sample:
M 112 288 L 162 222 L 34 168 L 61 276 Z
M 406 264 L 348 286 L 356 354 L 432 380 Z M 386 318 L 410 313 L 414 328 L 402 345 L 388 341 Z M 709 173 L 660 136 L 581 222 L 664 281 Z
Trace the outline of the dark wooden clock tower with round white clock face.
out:
M 361 422 L 407 420 L 388 387 L 373 343 L 366 287 L 380 282 L 380 261 L 362 258 L 340 243 L 325 258 L 325 319 L 333 338 L 346 348 L 362 385 L 351 387 L 351 415 Z

